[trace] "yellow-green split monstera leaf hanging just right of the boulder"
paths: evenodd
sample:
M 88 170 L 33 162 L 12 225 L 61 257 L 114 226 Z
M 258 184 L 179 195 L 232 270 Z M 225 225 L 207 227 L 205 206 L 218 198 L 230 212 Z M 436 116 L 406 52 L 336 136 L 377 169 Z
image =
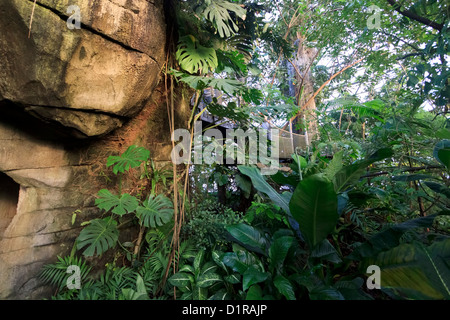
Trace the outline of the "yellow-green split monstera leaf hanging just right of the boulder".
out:
M 192 35 L 180 38 L 176 59 L 180 67 L 190 73 L 208 73 L 218 65 L 216 50 L 202 46 Z

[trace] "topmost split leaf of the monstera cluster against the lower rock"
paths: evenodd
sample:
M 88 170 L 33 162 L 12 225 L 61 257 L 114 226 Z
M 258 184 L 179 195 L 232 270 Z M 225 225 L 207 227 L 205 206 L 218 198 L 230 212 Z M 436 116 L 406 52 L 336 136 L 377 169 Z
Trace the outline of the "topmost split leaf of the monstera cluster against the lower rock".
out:
M 114 174 L 117 174 L 118 172 L 124 173 L 125 171 L 130 170 L 130 168 L 139 167 L 141 163 L 147 161 L 149 157 L 149 150 L 136 145 L 131 145 L 120 156 L 109 156 L 106 160 L 106 166 L 110 167 L 113 165 Z

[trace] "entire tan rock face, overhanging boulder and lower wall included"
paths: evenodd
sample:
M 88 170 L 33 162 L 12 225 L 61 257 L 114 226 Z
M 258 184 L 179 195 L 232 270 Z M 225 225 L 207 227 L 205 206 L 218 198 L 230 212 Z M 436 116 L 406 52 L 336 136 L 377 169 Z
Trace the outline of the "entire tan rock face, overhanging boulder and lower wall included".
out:
M 37 0 L 28 38 L 33 0 L 0 1 L 0 299 L 48 293 L 37 274 L 98 215 L 108 155 L 138 144 L 170 159 L 162 3 Z

